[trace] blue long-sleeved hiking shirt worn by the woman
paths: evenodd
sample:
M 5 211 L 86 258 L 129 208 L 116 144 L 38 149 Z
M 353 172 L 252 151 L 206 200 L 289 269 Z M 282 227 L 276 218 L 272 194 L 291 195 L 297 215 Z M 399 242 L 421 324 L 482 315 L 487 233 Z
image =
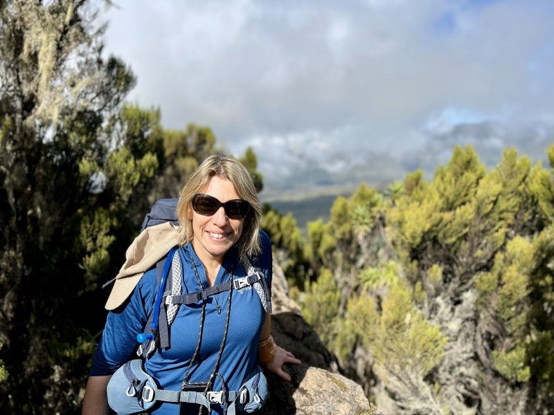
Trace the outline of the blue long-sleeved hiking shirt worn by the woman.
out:
M 264 232 L 260 232 L 260 241 L 262 255 L 256 261 L 256 266 L 261 268 L 267 286 L 270 288 L 271 243 Z M 204 288 L 209 286 L 204 266 L 192 245 L 179 248 L 175 255 L 179 255 L 181 260 L 183 295 L 201 290 L 195 275 L 195 267 Z M 214 285 L 228 282 L 231 277 L 237 279 L 246 275 L 247 271 L 238 259 L 238 250 L 233 247 L 226 252 Z M 125 362 L 136 358 L 134 353 L 137 346 L 136 335 L 143 333 L 148 315 L 152 312 L 156 291 L 157 269 L 154 267 L 143 275 L 127 302 L 116 311 L 108 313 L 102 340 L 93 358 L 90 376 L 114 374 Z M 189 382 L 207 382 L 210 378 L 224 336 L 229 295 L 229 291 L 225 291 L 204 300 L 206 315 L 202 342 L 199 357 L 190 367 Z M 218 312 L 218 306 L 220 312 Z M 194 304 L 181 304 L 175 321 L 170 326 L 170 348 L 167 350 L 158 348 L 154 355 L 145 361 L 146 371 L 157 380 L 161 389 L 181 390 L 181 382 L 184 380 L 190 359 L 197 347 L 201 313 L 202 300 Z M 252 286 L 240 290 L 233 289 L 229 331 L 217 370 L 217 373 L 224 378 L 227 390 L 238 390 L 247 380 L 247 376 L 256 369 L 258 343 L 264 320 L 265 311 L 256 290 Z M 218 376 L 215 377 L 212 390 L 222 390 L 222 383 Z M 198 405 L 190 405 L 190 414 L 197 414 L 197 411 Z M 179 414 L 179 405 L 158 403 L 152 413 Z M 222 414 L 222 407 L 212 405 L 212 414 Z

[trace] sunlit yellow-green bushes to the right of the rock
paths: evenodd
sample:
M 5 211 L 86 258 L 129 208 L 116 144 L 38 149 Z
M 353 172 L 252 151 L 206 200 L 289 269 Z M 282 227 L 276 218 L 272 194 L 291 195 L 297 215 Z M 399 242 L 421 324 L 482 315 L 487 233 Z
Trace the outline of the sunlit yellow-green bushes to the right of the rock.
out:
M 308 224 L 304 317 L 377 403 L 553 407 L 554 146 L 548 157 L 507 149 L 487 171 L 458 147 L 431 181 L 361 185 Z

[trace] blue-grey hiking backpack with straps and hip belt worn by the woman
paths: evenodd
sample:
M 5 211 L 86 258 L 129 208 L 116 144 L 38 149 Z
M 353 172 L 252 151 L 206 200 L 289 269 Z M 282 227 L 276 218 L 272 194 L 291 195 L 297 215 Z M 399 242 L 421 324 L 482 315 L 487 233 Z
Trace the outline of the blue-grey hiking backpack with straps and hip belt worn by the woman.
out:
M 154 203 L 150 213 L 145 215 L 141 231 L 168 221 L 179 224 L 175 212 L 177 201 L 178 199 L 160 199 Z M 125 363 L 112 376 L 107 388 L 109 405 L 120 414 L 148 410 L 157 400 L 197 403 L 204 405 L 208 410 L 211 403 L 220 403 L 227 415 L 234 415 L 237 407 L 244 412 L 260 409 L 267 398 L 267 380 L 260 367 L 247 377 L 247 381 L 238 391 L 222 390 L 205 393 L 158 389 L 153 378 L 144 370 L 143 360 L 150 358 L 157 347 L 165 349 L 170 347 L 169 328 L 180 304 L 192 304 L 217 293 L 253 286 L 263 308 L 267 313 L 271 313 L 271 298 L 265 276 L 249 259 L 241 261 L 244 270 L 247 271 L 246 277 L 231 279 L 230 282 L 217 284 L 196 293 L 181 295 L 181 261 L 178 256 L 175 256 L 176 250 L 177 247 L 172 248 L 156 265 L 158 277 L 154 307 L 148 316 L 143 333 L 136 336 L 139 343 L 136 353 L 139 359 Z M 166 306 L 165 312 L 162 303 Z M 128 385 L 125 391 L 122 385 Z

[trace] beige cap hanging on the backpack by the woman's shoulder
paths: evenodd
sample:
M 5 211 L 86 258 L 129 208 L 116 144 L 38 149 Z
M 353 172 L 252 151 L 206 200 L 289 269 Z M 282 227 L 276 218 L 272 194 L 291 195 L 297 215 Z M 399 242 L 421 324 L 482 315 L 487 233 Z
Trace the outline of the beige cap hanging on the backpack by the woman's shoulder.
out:
M 143 274 L 179 245 L 177 226 L 170 222 L 150 226 L 143 230 L 125 253 L 125 264 L 116 276 L 106 302 L 107 310 L 118 308 L 131 295 Z

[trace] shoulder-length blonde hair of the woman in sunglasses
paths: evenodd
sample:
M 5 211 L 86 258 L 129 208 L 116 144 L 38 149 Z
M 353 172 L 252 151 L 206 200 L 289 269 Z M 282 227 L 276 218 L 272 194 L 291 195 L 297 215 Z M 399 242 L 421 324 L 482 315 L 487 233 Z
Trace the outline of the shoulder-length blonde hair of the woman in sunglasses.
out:
M 240 199 L 250 204 L 250 210 L 242 225 L 242 234 L 236 245 L 240 259 L 258 255 L 261 251 L 258 233 L 262 220 L 262 205 L 248 170 L 238 160 L 228 156 L 206 158 L 181 190 L 177 202 L 181 244 L 184 245 L 193 239 L 193 221 L 189 219 L 193 212 L 193 196 L 201 192 L 214 176 L 231 181 Z

